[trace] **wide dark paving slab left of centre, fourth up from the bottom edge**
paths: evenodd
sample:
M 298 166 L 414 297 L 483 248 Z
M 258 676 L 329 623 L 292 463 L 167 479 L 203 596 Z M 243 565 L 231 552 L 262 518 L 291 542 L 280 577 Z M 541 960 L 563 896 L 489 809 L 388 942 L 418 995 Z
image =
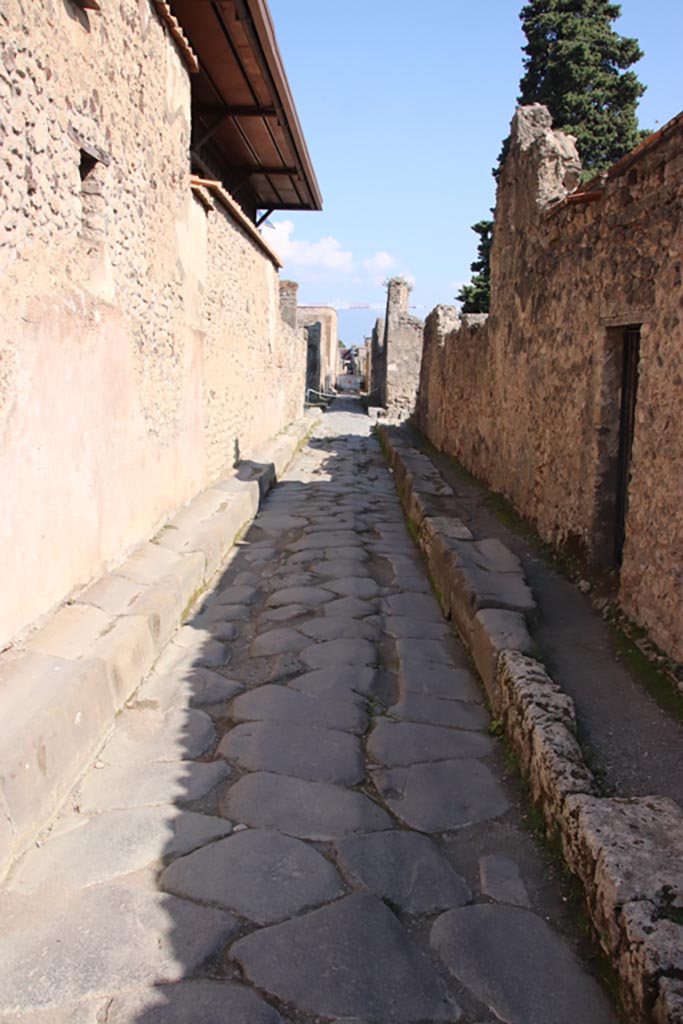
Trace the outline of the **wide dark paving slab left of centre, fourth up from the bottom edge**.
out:
M 230 729 L 218 754 L 236 767 L 336 785 L 356 785 L 366 770 L 356 736 L 293 722 L 248 722 Z

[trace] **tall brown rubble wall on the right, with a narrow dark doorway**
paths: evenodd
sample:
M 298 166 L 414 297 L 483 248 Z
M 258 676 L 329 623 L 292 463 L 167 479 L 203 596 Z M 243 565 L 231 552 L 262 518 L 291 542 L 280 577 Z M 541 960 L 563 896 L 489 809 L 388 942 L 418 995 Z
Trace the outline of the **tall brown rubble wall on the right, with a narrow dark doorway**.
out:
M 425 326 L 417 422 L 558 546 L 613 564 L 625 328 L 640 361 L 621 601 L 683 658 L 683 118 L 577 185 L 572 139 L 520 109 L 499 186 L 492 311 Z

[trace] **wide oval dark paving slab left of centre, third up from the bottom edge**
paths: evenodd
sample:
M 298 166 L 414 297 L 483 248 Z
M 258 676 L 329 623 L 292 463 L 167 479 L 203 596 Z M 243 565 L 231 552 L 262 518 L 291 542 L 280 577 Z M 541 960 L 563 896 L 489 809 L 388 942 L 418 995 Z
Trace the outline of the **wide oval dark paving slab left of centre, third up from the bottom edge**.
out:
M 268 772 L 245 775 L 220 807 L 226 817 L 253 828 L 323 843 L 391 824 L 387 813 L 360 793 Z

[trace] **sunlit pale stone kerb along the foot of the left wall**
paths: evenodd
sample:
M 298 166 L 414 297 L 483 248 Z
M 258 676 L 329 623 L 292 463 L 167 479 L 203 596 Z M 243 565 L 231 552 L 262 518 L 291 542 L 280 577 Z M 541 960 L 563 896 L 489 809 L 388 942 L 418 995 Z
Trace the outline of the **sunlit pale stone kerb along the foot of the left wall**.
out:
M 0 880 L 57 813 L 321 416 L 267 441 L 3 653 Z M 215 630 L 207 640 L 218 642 Z

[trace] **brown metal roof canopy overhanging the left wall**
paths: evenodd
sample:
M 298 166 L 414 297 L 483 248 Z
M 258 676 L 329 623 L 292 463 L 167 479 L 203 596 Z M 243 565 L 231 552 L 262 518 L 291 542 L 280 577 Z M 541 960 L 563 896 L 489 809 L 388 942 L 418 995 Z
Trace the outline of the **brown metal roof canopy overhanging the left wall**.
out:
M 266 0 L 172 0 L 199 57 L 193 162 L 256 210 L 321 210 Z

